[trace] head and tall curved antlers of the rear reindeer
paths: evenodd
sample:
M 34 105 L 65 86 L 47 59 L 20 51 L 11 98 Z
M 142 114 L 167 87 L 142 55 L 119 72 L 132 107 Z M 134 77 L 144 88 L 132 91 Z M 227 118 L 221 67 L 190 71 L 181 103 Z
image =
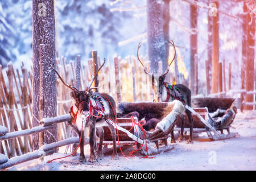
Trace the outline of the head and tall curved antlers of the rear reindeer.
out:
M 166 71 L 160 76 L 158 74 L 151 74 L 150 72 L 148 72 L 147 68 L 144 67 L 141 59 L 139 59 L 139 48 L 141 48 L 141 43 L 139 43 L 139 46 L 138 46 L 138 49 L 137 49 L 137 57 L 138 57 L 139 62 L 142 64 L 142 66 L 144 68 L 144 72 L 147 75 L 150 75 L 151 78 L 152 78 L 152 90 L 153 90 L 153 94 L 154 94 L 154 101 L 156 101 L 156 102 L 159 102 L 160 97 L 162 96 L 163 89 L 164 89 L 164 80 L 165 80 L 166 75 L 169 72 L 169 68 L 170 68 L 170 66 L 171 66 L 171 64 L 174 61 L 175 56 L 176 56 L 176 48 L 175 48 L 174 42 L 172 41 L 170 43 L 174 47 L 174 58 L 172 59 L 170 64 L 168 64 L 168 68 L 166 69 Z

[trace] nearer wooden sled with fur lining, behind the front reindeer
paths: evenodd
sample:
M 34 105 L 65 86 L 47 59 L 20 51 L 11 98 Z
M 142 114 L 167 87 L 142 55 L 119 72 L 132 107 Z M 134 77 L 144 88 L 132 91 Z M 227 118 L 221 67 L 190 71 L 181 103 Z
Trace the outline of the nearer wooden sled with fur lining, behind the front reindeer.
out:
M 136 102 L 133 104 L 139 107 L 141 106 L 142 102 Z M 131 118 L 118 118 L 118 125 L 114 125 L 113 123 L 113 126 L 118 129 L 119 143 L 121 145 L 134 145 L 135 143 L 137 143 L 137 148 L 142 147 L 142 152 L 144 155 L 155 155 L 160 154 L 161 152 L 172 150 L 175 144 L 166 143 L 166 146 L 159 147 L 155 146 L 155 143 L 158 140 L 168 138 L 170 133 L 174 130 L 177 121 L 180 119 L 179 115 L 184 112 L 183 104 L 180 101 L 175 101 L 172 103 L 144 102 L 143 105 L 144 109 L 146 109 L 146 107 L 149 108 L 152 105 L 154 105 L 154 107 L 162 108 L 159 111 L 155 112 L 157 115 L 161 115 L 160 118 L 162 118 L 162 121 L 158 123 L 154 131 L 144 131 L 143 133 L 143 130 L 138 125 L 135 125 L 135 127 L 131 129 Z M 162 113 L 162 111 L 164 111 L 164 113 Z M 138 123 L 139 120 L 140 119 L 135 118 L 135 122 Z M 109 128 L 105 126 L 104 144 L 112 144 L 112 135 Z

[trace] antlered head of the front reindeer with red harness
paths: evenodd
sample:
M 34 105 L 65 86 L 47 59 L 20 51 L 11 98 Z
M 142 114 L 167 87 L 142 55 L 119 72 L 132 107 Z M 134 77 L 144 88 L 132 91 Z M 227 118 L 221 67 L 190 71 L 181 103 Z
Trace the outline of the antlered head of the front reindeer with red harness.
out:
M 82 115 L 89 115 L 90 114 L 89 113 L 89 111 L 90 111 L 89 98 L 93 94 L 92 89 L 96 88 L 96 87 L 91 87 L 91 86 L 92 86 L 92 83 L 95 80 L 96 76 L 98 75 L 98 72 L 100 72 L 100 69 L 104 66 L 105 61 L 106 61 L 106 59 L 104 58 L 104 63 L 98 69 L 96 75 L 92 78 L 92 81 L 90 81 L 88 86 L 85 88 L 85 90 L 82 90 L 82 91 L 79 91 L 77 88 L 75 88 L 75 86 L 71 86 L 71 85 L 66 84 L 64 82 L 63 78 L 60 77 L 59 73 L 52 66 L 53 71 L 55 71 L 57 76 L 59 76 L 61 82 L 63 82 L 63 84 L 65 86 L 67 86 L 69 89 L 72 90 L 72 92 L 70 93 L 70 96 L 73 98 L 73 101 L 75 102 L 75 106 L 77 107 L 77 110 L 79 110 L 79 112 Z

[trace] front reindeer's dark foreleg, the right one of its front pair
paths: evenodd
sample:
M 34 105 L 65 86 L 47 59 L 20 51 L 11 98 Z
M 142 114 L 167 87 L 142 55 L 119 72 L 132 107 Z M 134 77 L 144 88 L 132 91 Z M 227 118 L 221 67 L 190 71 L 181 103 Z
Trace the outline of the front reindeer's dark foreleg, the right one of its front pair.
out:
M 96 155 L 95 155 L 95 125 L 96 125 L 96 120 L 92 119 L 89 124 L 89 144 L 90 144 L 90 158 L 89 162 L 94 163 L 97 161 Z

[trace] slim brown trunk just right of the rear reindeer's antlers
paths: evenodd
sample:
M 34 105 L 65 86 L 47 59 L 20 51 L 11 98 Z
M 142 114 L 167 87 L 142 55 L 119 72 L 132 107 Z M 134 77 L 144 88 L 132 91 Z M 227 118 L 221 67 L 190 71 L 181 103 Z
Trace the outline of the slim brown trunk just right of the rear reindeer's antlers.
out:
M 190 26 L 192 30 L 197 28 L 197 7 L 190 5 Z M 193 31 L 190 36 L 190 89 L 192 95 L 195 93 L 195 55 L 197 54 L 197 32 Z

